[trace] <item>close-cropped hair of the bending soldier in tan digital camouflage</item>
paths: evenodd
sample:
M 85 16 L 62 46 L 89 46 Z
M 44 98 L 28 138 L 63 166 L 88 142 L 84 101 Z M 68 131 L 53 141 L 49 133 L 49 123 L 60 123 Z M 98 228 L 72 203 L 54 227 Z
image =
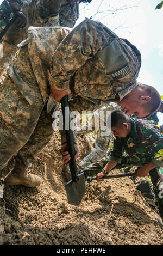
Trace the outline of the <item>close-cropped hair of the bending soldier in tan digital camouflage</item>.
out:
M 148 86 L 147 84 L 139 83 L 139 88 L 151 97 L 151 100 L 143 105 L 145 112 L 150 113 L 149 115 L 154 114 L 161 105 L 160 94 L 153 86 Z

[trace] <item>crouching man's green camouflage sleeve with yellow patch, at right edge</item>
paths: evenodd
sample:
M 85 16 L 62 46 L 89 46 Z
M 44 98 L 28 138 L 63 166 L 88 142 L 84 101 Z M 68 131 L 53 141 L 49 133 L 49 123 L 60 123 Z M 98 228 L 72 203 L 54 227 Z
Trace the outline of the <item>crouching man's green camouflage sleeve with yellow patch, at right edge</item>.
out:
M 159 127 L 154 126 L 149 129 L 146 126 L 143 126 L 142 132 L 146 135 L 146 139 L 151 144 L 152 151 L 155 155 L 152 162 L 157 166 L 163 167 L 163 136 Z

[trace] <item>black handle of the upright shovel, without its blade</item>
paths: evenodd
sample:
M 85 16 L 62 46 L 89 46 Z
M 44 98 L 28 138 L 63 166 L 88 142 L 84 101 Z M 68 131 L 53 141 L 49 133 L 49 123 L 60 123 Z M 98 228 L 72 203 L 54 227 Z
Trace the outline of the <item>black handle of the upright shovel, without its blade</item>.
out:
M 75 147 L 74 147 L 74 138 L 73 138 L 73 132 L 70 128 L 70 110 L 69 110 L 69 105 L 68 105 L 68 97 L 65 95 L 61 99 L 61 107 L 62 107 L 62 113 L 63 113 L 63 118 L 64 118 L 64 130 L 65 130 L 65 120 L 68 121 L 68 130 L 65 130 L 66 133 L 66 139 L 67 139 L 67 148 L 68 152 L 70 153 L 70 172 L 71 172 L 71 178 L 73 182 L 76 182 L 76 178 L 78 175 L 78 170 L 77 170 L 77 164 L 76 160 L 74 160 L 74 155 L 76 154 Z M 65 108 L 67 107 L 67 108 Z M 66 111 L 65 111 L 66 110 Z M 66 118 L 66 119 L 65 119 Z

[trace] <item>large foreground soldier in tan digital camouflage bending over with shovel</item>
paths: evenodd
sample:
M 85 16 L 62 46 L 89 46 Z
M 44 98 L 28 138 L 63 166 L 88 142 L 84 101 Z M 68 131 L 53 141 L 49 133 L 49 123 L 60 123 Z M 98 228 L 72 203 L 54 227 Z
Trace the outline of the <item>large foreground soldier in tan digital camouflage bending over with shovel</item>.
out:
M 18 153 L 16 167 L 5 179 L 9 185 L 40 184 L 40 179 L 27 175 L 26 169 L 53 135 L 52 112 L 57 111 L 64 95 L 70 95 L 71 110 L 79 112 L 94 111 L 116 101 L 120 106 L 122 102 L 127 111 L 143 116 L 160 106 L 158 92 L 147 86 L 156 98 L 147 96 L 149 93 L 141 89 L 146 86 L 136 81 L 140 69 L 136 47 L 131 48 L 102 23 L 89 19 L 69 32 L 68 28 L 30 27 L 28 40 L 22 43 L 7 71 L 0 95 L 0 168 Z M 112 52 L 114 59 L 110 60 Z M 108 58 L 104 58 L 106 54 Z M 146 111 L 146 99 L 154 99 L 159 106 L 149 103 Z M 61 142 L 62 159 L 68 164 L 65 136 Z M 78 156 L 76 144 L 74 157 Z

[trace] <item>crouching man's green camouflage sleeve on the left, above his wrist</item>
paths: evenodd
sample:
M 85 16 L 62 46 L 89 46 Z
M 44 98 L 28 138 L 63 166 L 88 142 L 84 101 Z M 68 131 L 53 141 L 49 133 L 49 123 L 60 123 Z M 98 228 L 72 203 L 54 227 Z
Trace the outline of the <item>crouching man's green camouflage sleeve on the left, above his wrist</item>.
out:
M 110 151 L 109 162 L 121 163 L 123 155 L 123 145 L 120 139 L 116 137 L 113 142 L 113 148 Z

